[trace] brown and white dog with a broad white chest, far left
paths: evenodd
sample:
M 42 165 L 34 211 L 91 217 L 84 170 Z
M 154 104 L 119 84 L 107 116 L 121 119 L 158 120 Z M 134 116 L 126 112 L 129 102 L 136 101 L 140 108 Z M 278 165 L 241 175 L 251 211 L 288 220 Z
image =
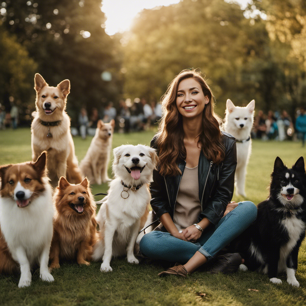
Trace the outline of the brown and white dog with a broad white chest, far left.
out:
M 54 209 L 46 156 L 44 151 L 36 162 L 0 167 L 0 274 L 20 267 L 18 287 L 31 285 L 34 263 L 40 263 L 43 281 L 54 281 L 48 271 Z

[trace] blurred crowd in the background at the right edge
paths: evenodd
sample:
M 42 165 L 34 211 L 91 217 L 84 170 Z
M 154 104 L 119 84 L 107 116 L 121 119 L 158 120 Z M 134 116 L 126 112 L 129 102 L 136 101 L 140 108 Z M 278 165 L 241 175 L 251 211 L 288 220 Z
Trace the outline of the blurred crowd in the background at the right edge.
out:
M 267 114 L 259 110 L 254 118 L 252 138 L 279 141 L 301 139 L 304 146 L 306 140 L 306 112 L 304 107 L 297 109 L 294 119 L 295 125 L 286 110 L 281 113 L 269 110 Z

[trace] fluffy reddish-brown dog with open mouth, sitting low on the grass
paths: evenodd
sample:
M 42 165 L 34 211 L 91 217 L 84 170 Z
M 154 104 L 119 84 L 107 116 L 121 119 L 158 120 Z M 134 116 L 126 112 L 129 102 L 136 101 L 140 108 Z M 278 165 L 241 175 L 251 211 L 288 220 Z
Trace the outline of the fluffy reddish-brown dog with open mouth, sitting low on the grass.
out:
M 60 259 L 76 259 L 78 264 L 89 265 L 98 233 L 95 221 L 97 207 L 87 178 L 74 185 L 61 177 L 53 200 L 56 211 L 50 269 L 59 268 Z

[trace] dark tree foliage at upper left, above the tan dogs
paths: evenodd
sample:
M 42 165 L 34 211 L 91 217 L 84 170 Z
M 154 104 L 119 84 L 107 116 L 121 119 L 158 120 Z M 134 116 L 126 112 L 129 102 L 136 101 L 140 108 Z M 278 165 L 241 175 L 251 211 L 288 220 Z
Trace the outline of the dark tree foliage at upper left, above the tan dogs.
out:
M 121 93 L 118 39 L 104 31 L 100 0 L 6 0 L 2 20 L 37 62 L 39 72 L 55 86 L 71 82 L 68 110 L 101 107 Z M 108 71 L 112 80 L 101 73 Z M 33 83 L 34 74 L 31 83 Z M 32 102 L 34 103 L 34 101 Z

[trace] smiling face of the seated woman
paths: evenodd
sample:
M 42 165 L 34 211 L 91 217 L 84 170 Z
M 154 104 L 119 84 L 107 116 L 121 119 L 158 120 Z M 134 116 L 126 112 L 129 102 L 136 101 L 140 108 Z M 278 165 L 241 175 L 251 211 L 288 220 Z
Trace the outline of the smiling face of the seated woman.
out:
M 176 106 L 185 118 L 202 118 L 208 96 L 203 94 L 201 85 L 193 78 L 182 80 L 177 87 Z

